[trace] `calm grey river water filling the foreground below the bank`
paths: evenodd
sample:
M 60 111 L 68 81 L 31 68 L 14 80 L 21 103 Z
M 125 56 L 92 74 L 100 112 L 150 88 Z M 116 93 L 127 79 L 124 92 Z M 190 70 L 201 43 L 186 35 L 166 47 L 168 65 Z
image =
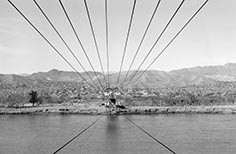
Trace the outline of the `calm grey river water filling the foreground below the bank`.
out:
M 52 154 L 99 116 L 1 115 L 0 154 Z M 236 153 L 236 115 L 103 115 L 58 154 Z

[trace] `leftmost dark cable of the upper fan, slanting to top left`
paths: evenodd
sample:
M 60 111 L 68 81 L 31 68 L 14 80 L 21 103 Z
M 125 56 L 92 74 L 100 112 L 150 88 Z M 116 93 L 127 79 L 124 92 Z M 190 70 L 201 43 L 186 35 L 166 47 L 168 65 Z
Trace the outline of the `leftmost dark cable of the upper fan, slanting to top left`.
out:
M 90 86 L 93 87 L 81 73 L 52 45 L 52 43 L 34 26 L 34 24 L 13 4 L 10 0 L 8 2 L 11 6 L 33 27 L 33 29 L 53 48 L 53 50 Z

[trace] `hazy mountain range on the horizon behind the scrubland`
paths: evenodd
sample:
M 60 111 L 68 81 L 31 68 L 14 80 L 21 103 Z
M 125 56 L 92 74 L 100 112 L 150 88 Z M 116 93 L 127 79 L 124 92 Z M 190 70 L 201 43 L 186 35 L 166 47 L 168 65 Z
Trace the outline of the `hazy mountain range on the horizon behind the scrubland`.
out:
M 236 64 L 228 63 L 221 66 L 204 66 L 184 68 L 180 70 L 173 70 L 170 72 L 150 70 L 143 74 L 143 76 L 134 83 L 137 77 L 143 71 L 139 71 L 137 76 L 129 86 L 139 88 L 154 88 L 162 86 L 185 86 L 185 85 L 199 85 L 199 84 L 214 84 L 219 81 L 236 81 Z M 123 85 L 126 86 L 129 82 L 130 76 L 124 81 Z M 95 81 L 96 75 L 93 72 L 88 72 L 92 79 Z M 104 84 L 103 74 L 96 72 L 100 81 Z M 86 73 L 81 75 L 90 80 Z M 126 72 L 121 73 L 121 80 L 124 80 Z M 118 73 L 110 74 L 111 85 L 117 82 Z M 53 69 L 48 72 L 38 72 L 31 75 L 12 75 L 0 74 L 0 84 L 40 84 L 47 82 L 81 82 L 81 77 L 75 72 L 59 71 Z M 90 80 L 91 81 L 91 80 Z

